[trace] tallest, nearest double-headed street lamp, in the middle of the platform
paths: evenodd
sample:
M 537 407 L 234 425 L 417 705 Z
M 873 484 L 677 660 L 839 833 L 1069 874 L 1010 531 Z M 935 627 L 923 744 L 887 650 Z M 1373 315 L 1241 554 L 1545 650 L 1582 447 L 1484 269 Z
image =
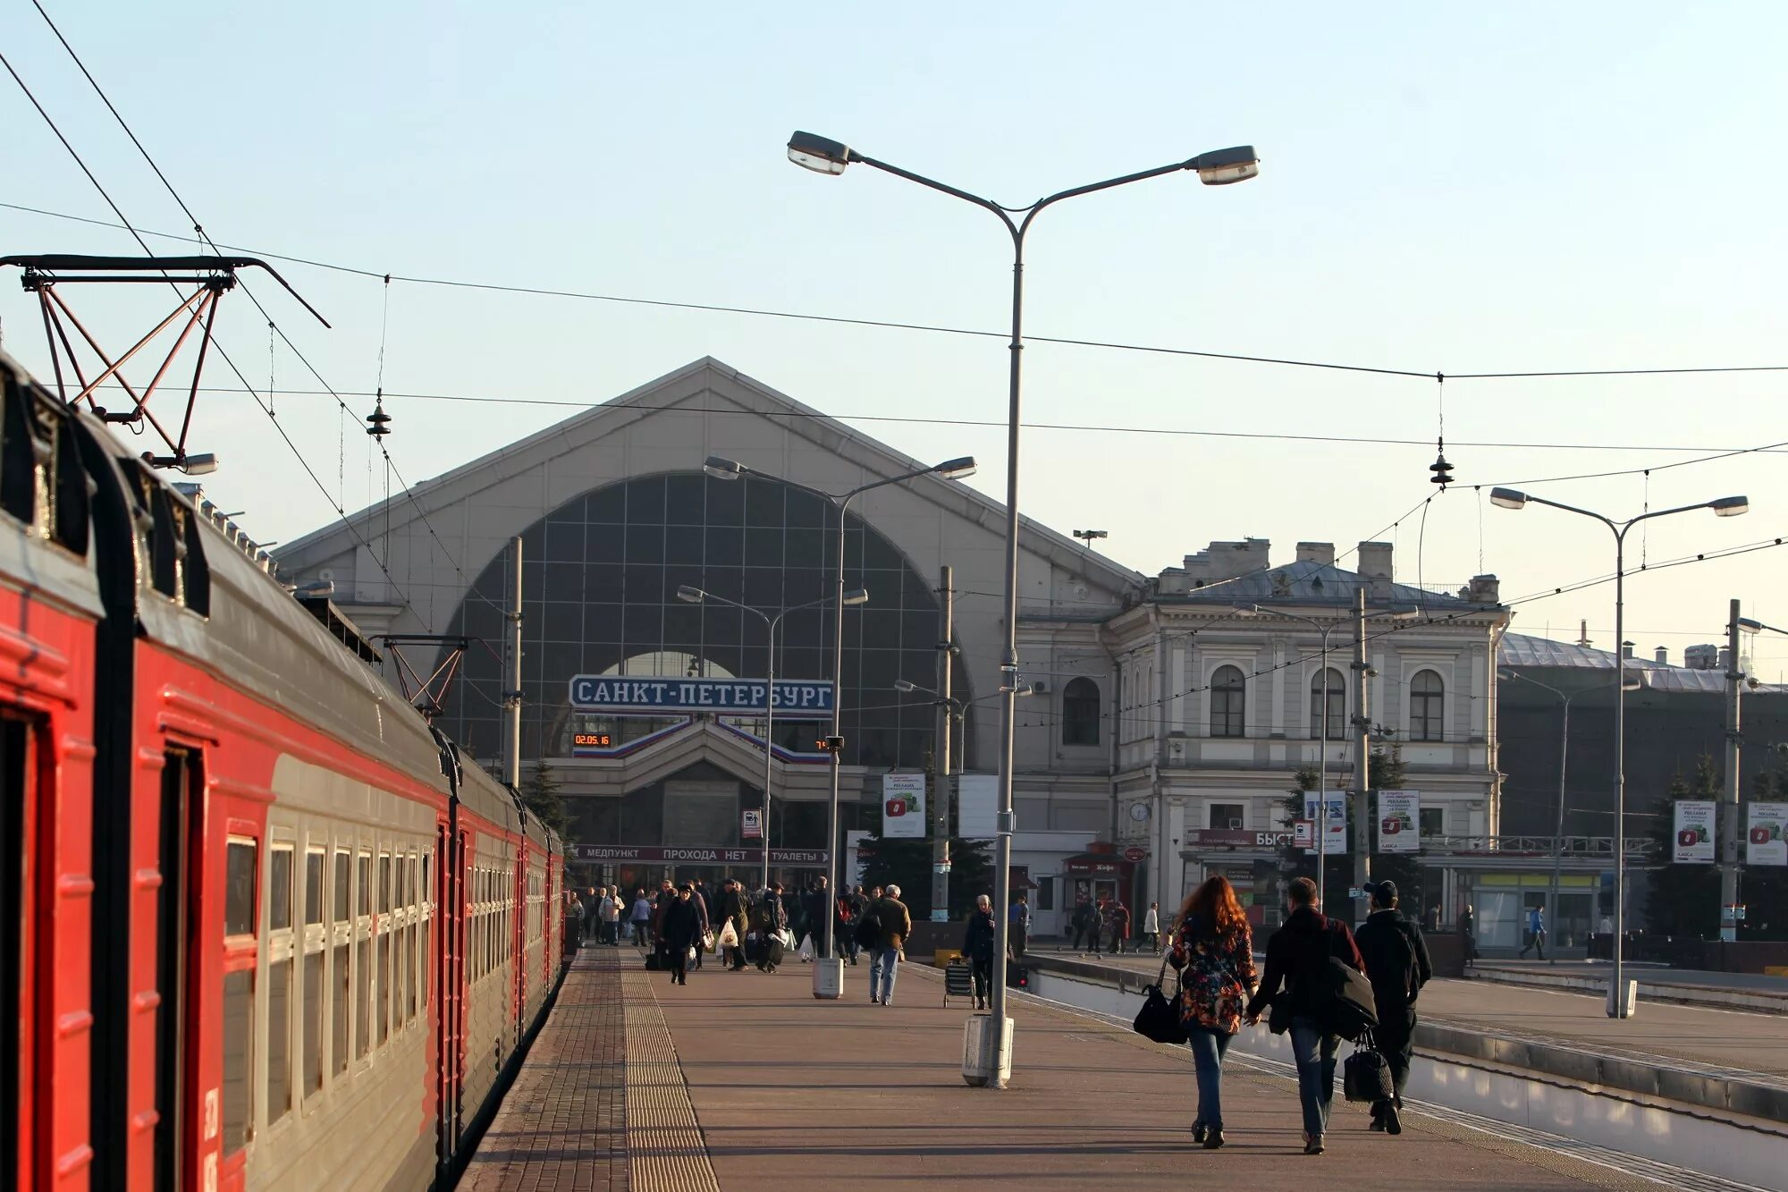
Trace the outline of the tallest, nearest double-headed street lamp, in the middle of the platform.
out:
M 999 684 L 999 693 L 1005 696 L 1001 700 L 1003 719 L 999 725 L 999 838 L 994 845 L 994 918 L 998 924 L 996 952 L 1005 956 L 1007 949 L 1007 902 L 1010 891 L 1007 890 L 1012 879 L 1012 739 L 1014 739 L 1014 705 L 1012 700 L 1017 694 L 1017 438 L 1019 438 L 1019 356 L 1025 351 L 1025 233 L 1030 231 L 1032 220 L 1037 215 L 1062 199 L 1073 199 L 1076 195 L 1091 195 L 1100 190 L 1110 190 L 1114 186 L 1125 186 L 1128 183 L 1141 183 L 1143 179 L 1160 177 L 1164 174 L 1178 174 L 1182 170 L 1196 170 L 1198 179 L 1207 186 L 1227 186 L 1230 183 L 1244 183 L 1261 172 L 1261 159 L 1255 156 L 1252 145 L 1237 145 L 1234 149 L 1218 149 L 1207 154 L 1198 154 L 1185 161 L 1175 161 L 1171 165 L 1155 166 L 1153 170 L 1143 170 L 1139 174 L 1125 174 L 1123 177 L 1105 179 L 1103 183 L 1091 183 L 1087 186 L 1075 186 L 1071 190 L 1062 190 L 1053 195 L 1046 195 L 1037 202 L 1023 208 L 1008 208 L 991 199 L 982 199 L 980 195 L 971 195 L 966 190 L 948 186 L 935 179 L 924 177 L 923 174 L 914 174 L 903 170 L 887 161 L 876 161 L 867 158 L 842 141 L 833 141 L 824 136 L 815 136 L 812 132 L 796 132 L 789 138 L 789 161 L 814 170 L 815 174 L 844 174 L 844 168 L 860 163 L 874 166 L 883 174 L 892 174 L 894 177 L 903 177 L 908 183 L 917 183 L 928 186 L 939 193 L 949 195 L 951 199 L 962 199 L 964 202 L 973 202 L 978 208 L 992 211 L 992 215 L 1005 224 L 1007 231 L 1012 234 L 1012 340 L 1007 345 L 1010 351 L 1008 365 L 1008 392 L 1007 392 L 1007 524 L 1005 524 L 1005 657 L 999 662 L 1003 671 L 1003 682 Z M 1014 220 L 1019 215 L 1023 218 Z M 1005 1033 L 1005 1011 L 1007 1011 L 1007 983 L 1005 983 L 1005 965 L 994 965 L 994 988 L 991 999 L 991 1011 L 994 1027 L 983 1031 L 985 1051 L 982 1056 L 982 1069 L 985 1072 L 985 1083 L 996 1088 L 1003 1088 L 1007 1076 L 1010 1072 L 1010 1051 L 1007 1045 Z M 966 1072 L 967 1076 L 967 1072 Z M 971 1077 L 980 1081 L 980 1076 Z

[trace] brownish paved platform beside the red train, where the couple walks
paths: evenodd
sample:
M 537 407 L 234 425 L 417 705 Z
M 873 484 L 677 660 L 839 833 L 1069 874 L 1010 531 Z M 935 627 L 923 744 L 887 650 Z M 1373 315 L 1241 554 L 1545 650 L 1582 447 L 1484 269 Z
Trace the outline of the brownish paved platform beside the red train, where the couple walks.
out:
M 969 1011 L 942 1006 L 935 972 L 903 966 L 894 1004 L 874 1006 L 865 965 L 846 970 L 846 999 L 815 1000 L 803 965 L 774 975 L 710 965 L 687 986 L 631 970 L 617 981 L 615 966 L 635 959 L 631 949 L 579 954 L 461 1188 L 1656 1187 L 1416 1113 L 1402 1137 L 1373 1135 L 1339 1095 L 1327 1154 L 1305 1156 L 1295 1085 L 1236 1063 L 1223 1088 L 1230 1145 L 1203 1151 L 1187 1133 L 1184 1047 L 1016 999 L 1012 1086 L 978 1090 L 960 1076 Z M 617 1009 L 626 1031 L 613 1029 Z M 635 1026 L 653 1022 L 663 1038 L 647 1040 L 644 1058 L 681 1081 L 658 1079 L 635 1104 L 628 1067 L 645 1036 Z M 701 1154 L 670 1169 L 663 1129 L 678 1099 Z

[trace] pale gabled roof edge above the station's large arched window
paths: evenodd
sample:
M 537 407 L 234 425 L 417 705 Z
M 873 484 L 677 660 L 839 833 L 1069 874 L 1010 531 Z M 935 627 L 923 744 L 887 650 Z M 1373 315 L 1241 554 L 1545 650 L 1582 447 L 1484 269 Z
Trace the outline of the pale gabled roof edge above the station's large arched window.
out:
M 619 397 L 594 404 L 542 431 L 461 464 L 433 480 L 411 485 L 409 499 L 393 499 L 390 505 L 392 526 L 395 530 L 413 521 L 418 507 L 424 514 L 433 514 L 436 508 L 465 499 L 470 492 L 485 487 L 477 483 L 481 474 L 490 478 L 488 483 L 497 483 L 576 451 L 594 438 L 601 438 L 633 421 L 687 406 L 703 396 L 712 396 L 740 410 L 774 419 L 778 424 L 787 426 L 790 433 L 853 460 L 871 474 L 894 476 L 926 467 L 924 462 L 896 451 L 713 356 L 703 356 Z M 976 521 L 982 524 L 996 526 L 1005 519 L 1005 505 L 967 485 L 940 478 L 921 478 L 912 481 L 910 489 L 928 492 L 933 499 L 948 499 L 944 494 L 953 494 L 957 501 L 969 501 L 973 507 L 980 507 Z M 383 533 L 384 507 L 381 505 L 377 512 L 381 517 L 379 532 Z M 370 533 L 367 526 L 372 523 L 372 515 L 374 508 L 368 507 L 358 514 L 350 514 L 347 521 L 359 526 L 363 533 Z M 1118 589 L 1141 589 L 1144 583 L 1141 573 L 1084 549 L 1078 542 L 1050 526 L 1028 517 L 1019 517 L 1019 524 L 1026 546 L 1033 551 L 1048 555 L 1066 553 L 1066 557 L 1075 560 L 1075 566 L 1103 573 L 1107 583 Z M 279 548 L 275 557 L 291 560 L 302 567 L 318 558 L 342 553 L 350 546 L 352 537 L 347 533 L 347 528 L 342 523 L 331 523 Z

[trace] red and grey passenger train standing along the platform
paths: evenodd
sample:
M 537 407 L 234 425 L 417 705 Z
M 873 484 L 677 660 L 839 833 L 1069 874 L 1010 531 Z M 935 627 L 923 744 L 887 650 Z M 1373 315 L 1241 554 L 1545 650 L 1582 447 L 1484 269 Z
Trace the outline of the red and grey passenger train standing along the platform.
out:
M 560 965 L 560 841 L 0 356 L 0 1188 L 424 1188 Z

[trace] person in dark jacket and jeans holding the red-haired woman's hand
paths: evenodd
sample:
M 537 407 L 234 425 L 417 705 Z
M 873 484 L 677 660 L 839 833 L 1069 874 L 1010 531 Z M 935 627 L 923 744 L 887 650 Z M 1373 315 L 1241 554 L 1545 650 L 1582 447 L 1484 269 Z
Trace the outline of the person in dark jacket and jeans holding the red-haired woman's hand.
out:
M 1287 890 L 1291 915 L 1266 941 L 1266 977 L 1248 1002 L 1248 1022 L 1273 1004 L 1275 1026 L 1280 1015 L 1291 1029 L 1291 1058 L 1298 1067 L 1298 1101 L 1303 1104 L 1303 1153 L 1323 1153 L 1328 1128 L 1328 1103 L 1334 1097 L 1336 1051 L 1341 1036 L 1328 1031 L 1328 993 L 1321 977 L 1328 958 L 1364 972 L 1354 932 L 1337 918 L 1325 918 L 1316 882 L 1298 877 Z

